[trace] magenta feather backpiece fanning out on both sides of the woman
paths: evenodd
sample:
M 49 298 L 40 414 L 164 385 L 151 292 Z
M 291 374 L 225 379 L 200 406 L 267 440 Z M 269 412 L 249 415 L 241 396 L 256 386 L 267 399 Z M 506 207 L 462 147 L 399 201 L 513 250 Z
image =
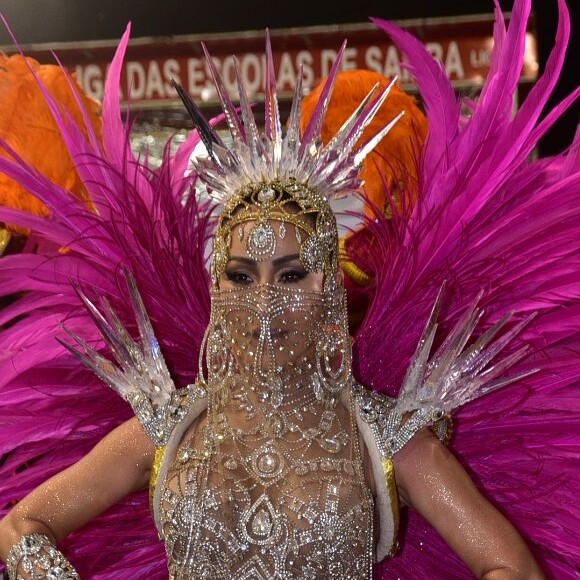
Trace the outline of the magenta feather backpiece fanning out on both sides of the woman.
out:
M 443 69 L 421 43 L 374 19 L 406 54 L 429 128 L 412 213 L 395 208 L 387 219 L 377 211 L 366 224 L 373 281 L 365 287 L 369 307 L 354 339 L 353 362 L 363 384 L 396 394 L 443 281 L 443 329 L 482 288 L 484 327 L 506 310 L 519 319 L 537 312 L 521 337 L 535 349 L 518 365 L 540 371 L 466 405 L 452 443 L 546 572 L 572 578 L 580 560 L 580 513 L 574 507 L 580 481 L 579 142 L 560 156 L 529 161 L 537 140 L 578 93 L 539 121 L 568 38 L 567 10 L 563 0 L 558 4 L 560 27 L 546 72 L 513 116 L 529 1 L 516 1 L 507 30 L 496 6 L 491 70 L 469 117 L 461 115 Z M 206 244 L 214 227 L 212 207 L 187 195 L 195 176 L 184 173 L 198 136 L 193 133 L 174 156 L 168 148 L 157 170 L 134 158 L 117 92 L 128 35 L 109 69 L 102 146 L 86 118 L 87 137 L 43 90 L 95 211 L 2 143 L 8 157 L 0 158 L 0 171 L 49 209 L 39 217 L 0 208 L 0 220 L 29 228 L 45 242 L 41 253 L 0 260 L 2 292 L 22 293 L 0 312 L 4 511 L 130 415 L 55 340 L 64 337 L 65 323 L 94 348 L 104 346 L 71 280 L 81 290 L 97 288 L 134 330 L 120 275 L 129 270 L 175 383 L 186 385 L 197 373 L 209 317 Z M 409 513 L 405 527 L 399 553 L 377 566 L 377 577 L 470 577 L 419 516 Z M 69 536 L 63 548 L 81 577 L 166 575 L 144 493 Z

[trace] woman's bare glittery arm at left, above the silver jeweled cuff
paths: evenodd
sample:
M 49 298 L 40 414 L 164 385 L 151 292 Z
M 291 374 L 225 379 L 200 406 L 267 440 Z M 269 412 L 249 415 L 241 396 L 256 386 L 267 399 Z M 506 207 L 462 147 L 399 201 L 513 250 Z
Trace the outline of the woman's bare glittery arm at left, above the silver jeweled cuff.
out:
M 24 534 L 54 543 L 132 491 L 147 486 L 155 454 L 136 419 L 123 423 L 84 458 L 40 485 L 0 521 L 0 557 Z

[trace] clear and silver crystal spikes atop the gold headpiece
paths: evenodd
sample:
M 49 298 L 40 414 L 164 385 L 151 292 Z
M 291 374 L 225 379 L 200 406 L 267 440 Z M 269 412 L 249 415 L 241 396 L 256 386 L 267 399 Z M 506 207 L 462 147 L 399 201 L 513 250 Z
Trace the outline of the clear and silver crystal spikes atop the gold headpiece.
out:
M 379 132 L 356 147 L 365 127 L 387 98 L 396 81 L 394 79 L 373 97 L 376 92 L 374 87 L 330 142 L 323 145 L 320 135 L 322 121 L 346 47 L 344 41 L 302 136 L 300 100 L 303 75 L 302 67 L 300 68 L 289 123 L 283 134 L 270 35 L 266 31 L 265 115 L 264 131 L 260 132 L 239 73 L 237 59 L 234 57 L 239 107 L 234 106 L 211 55 L 203 43 L 202 46 L 231 135 L 231 146 L 226 146 L 217 132 L 203 119 L 203 115 L 185 91 L 181 87 L 176 88 L 190 114 L 192 108 L 195 110 L 192 119 L 207 150 L 207 157 L 192 159 L 193 169 L 206 185 L 209 195 L 222 204 L 228 203 L 232 197 L 248 187 L 270 182 L 300 184 L 326 200 L 357 191 L 361 185 L 358 174 L 365 156 L 404 113 L 401 111 Z

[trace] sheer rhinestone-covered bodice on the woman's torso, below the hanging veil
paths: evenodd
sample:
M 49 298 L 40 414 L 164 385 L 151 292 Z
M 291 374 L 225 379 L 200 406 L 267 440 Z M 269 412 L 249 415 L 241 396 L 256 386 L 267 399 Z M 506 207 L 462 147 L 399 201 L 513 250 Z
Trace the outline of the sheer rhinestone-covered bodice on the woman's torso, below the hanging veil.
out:
M 228 419 L 208 449 L 214 419 L 184 438 L 160 490 L 170 577 L 369 578 L 373 503 L 352 423 L 333 454 Z

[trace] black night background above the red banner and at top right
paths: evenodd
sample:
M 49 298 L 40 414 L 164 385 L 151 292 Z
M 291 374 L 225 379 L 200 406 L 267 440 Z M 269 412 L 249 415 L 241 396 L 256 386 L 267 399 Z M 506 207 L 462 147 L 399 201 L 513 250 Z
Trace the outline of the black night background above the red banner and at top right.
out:
M 344 1 L 344 0 L 343 0 Z M 341 2 L 342 4 L 342 2 Z M 500 0 L 504 12 L 513 0 Z M 572 21 L 564 74 L 549 104 L 553 105 L 576 87 L 580 77 L 578 38 L 580 36 L 580 0 L 567 0 Z M 540 66 L 553 45 L 557 21 L 556 0 L 535 0 Z M 493 0 L 0 0 L 0 12 L 21 44 L 117 39 L 127 22 L 132 22 L 132 36 L 170 36 L 241 30 L 260 30 L 367 22 L 369 16 L 391 20 L 490 14 Z M 9 43 L 5 31 L 0 44 Z M 570 143 L 578 120 L 577 102 L 544 137 L 540 154 L 561 151 Z

